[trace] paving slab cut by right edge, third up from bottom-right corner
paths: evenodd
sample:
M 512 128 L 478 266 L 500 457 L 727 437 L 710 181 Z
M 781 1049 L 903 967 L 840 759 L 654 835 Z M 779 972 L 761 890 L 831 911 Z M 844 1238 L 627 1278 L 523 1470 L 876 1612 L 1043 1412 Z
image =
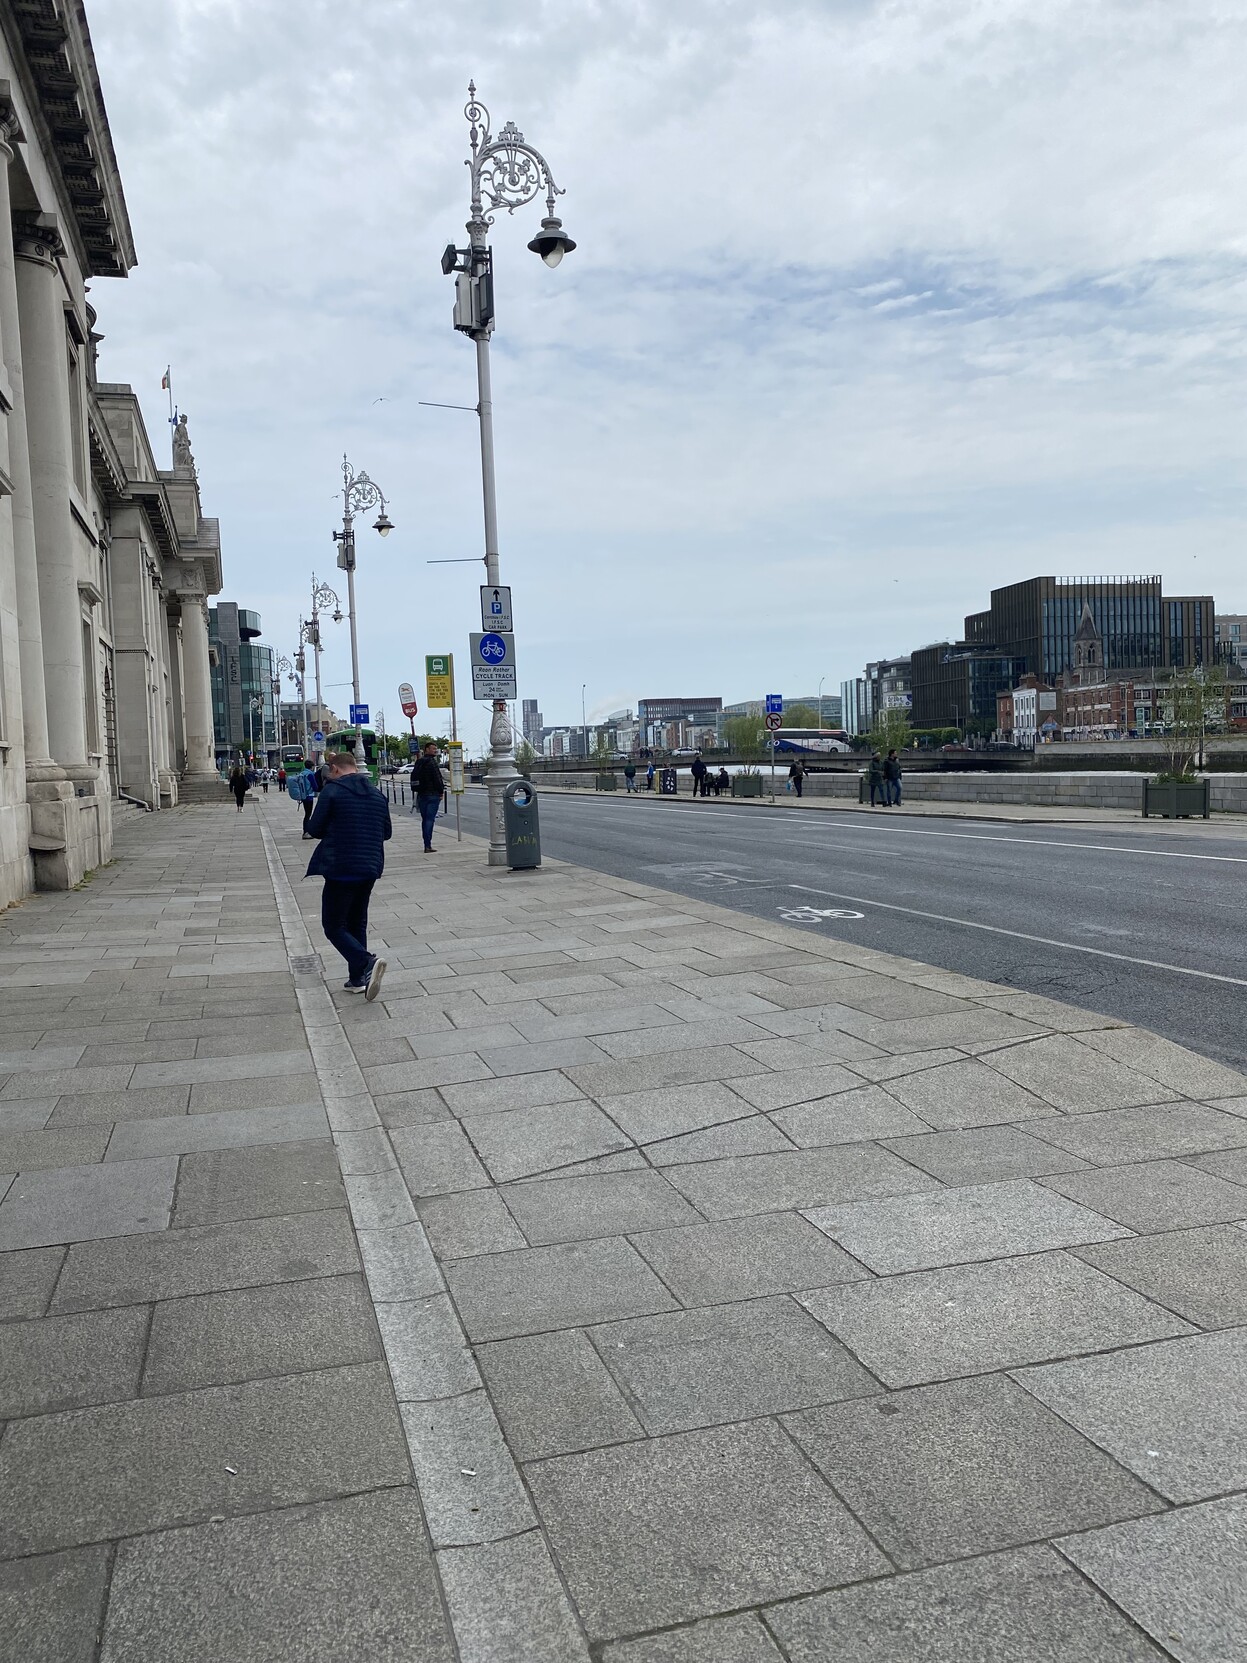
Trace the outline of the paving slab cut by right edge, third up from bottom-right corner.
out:
M 1082 1247 L 1077 1257 L 1202 1329 L 1247 1322 L 1247 1231 L 1232 1224 Z

